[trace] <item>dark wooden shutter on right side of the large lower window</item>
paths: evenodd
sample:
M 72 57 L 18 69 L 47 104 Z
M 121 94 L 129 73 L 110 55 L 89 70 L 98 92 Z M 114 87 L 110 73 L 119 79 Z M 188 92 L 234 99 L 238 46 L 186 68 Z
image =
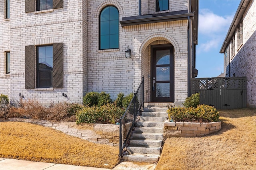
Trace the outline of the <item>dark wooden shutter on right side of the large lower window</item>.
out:
M 54 43 L 53 48 L 53 87 L 63 88 L 63 43 Z

